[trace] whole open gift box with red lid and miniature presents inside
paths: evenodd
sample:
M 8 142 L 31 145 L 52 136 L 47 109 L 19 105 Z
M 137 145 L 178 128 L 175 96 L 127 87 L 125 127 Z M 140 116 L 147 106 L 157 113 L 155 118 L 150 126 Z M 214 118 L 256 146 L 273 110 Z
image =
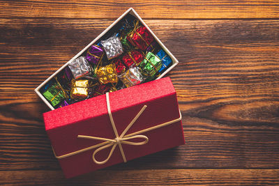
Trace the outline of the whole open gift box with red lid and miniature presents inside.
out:
M 157 73 L 158 67 L 152 63 L 152 67 L 156 67 L 152 71 L 156 72 L 153 77 L 141 74 L 149 63 L 140 67 L 140 60 L 132 54 L 133 50 L 140 51 L 139 48 L 123 47 L 123 54 L 118 51 L 122 44 L 115 38 L 119 34 L 115 33 L 123 20 L 127 24 L 121 27 L 125 31 L 122 34 L 131 28 L 137 29 L 136 24 L 130 22 L 133 17 L 137 26 L 144 26 L 144 32 L 153 37 L 156 48 L 163 49 L 171 59 L 161 73 Z M 144 54 L 144 51 L 140 52 Z M 123 61 L 126 54 L 131 54 L 133 59 L 130 63 L 135 65 L 124 63 L 127 62 Z M 177 63 L 165 45 L 130 8 L 35 89 L 52 109 L 43 114 L 45 129 L 66 178 L 185 143 L 176 92 L 169 78 L 160 79 Z M 56 88 L 56 84 L 59 89 L 50 91 L 52 86 Z M 47 90 L 50 93 L 45 93 Z M 59 97 L 61 93 L 67 99 Z

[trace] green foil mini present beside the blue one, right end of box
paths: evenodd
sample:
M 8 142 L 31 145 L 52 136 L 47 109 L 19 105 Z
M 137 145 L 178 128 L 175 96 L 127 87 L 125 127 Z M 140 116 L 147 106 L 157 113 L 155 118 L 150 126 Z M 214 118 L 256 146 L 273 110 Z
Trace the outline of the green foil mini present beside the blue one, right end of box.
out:
M 158 72 L 158 70 L 160 70 L 161 67 L 161 60 L 152 52 L 148 52 L 142 63 L 140 63 L 140 68 L 142 68 L 142 74 L 147 77 L 153 77 L 154 75 L 156 75 L 156 73 Z

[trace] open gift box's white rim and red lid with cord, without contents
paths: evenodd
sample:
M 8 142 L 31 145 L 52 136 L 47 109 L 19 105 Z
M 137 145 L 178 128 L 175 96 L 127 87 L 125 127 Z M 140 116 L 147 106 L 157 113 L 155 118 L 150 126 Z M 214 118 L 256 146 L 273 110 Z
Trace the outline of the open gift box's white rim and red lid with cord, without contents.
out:
M 163 52 L 172 63 L 166 65 L 160 73 L 156 70 L 153 79 L 157 80 L 149 79 L 153 81 L 127 86 L 128 88 L 107 92 L 61 108 L 54 107 L 45 97 L 46 86 L 73 61 L 85 56 L 91 46 L 107 40 L 108 36 L 115 32 L 119 22 L 128 15 L 133 15 L 151 33 L 160 47 L 158 58 L 162 55 L 160 52 Z M 148 49 L 151 46 L 146 47 Z M 165 56 L 160 59 L 163 61 Z M 148 59 L 146 60 L 146 63 L 149 63 Z M 107 61 L 110 61 L 109 55 Z M 45 129 L 66 178 L 185 144 L 176 91 L 168 77 L 160 79 L 177 63 L 135 10 L 130 8 L 35 89 L 52 109 L 43 114 Z M 55 96 L 60 94 L 57 92 Z

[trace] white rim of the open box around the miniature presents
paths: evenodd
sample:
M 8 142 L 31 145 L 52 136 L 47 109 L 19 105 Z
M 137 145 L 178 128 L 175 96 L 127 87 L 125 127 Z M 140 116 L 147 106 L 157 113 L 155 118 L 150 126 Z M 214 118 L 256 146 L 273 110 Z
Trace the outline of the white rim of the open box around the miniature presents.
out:
M 167 55 L 169 55 L 169 57 L 172 59 L 172 65 L 169 66 L 169 68 L 167 68 L 167 70 L 165 70 L 165 72 L 163 72 L 157 79 L 160 79 L 161 77 L 163 77 L 165 74 L 167 74 L 167 72 L 169 72 L 169 70 L 172 70 L 172 68 L 174 68 L 175 65 L 177 65 L 179 63 L 179 61 L 177 61 L 177 59 L 172 55 L 171 52 L 169 52 L 169 50 L 167 49 L 167 47 L 165 47 L 165 45 L 163 44 L 163 42 L 161 42 L 157 36 L 153 33 L 153 31 L 151 31 L 151 29 L 149 29 L 149 26 L 147 26 L 145 24 L 145 22 L 142 20 L 142 18 L 140 17 L 140 15 L 138 15 L 135 10 L 133 8 L 129 8 L 125 13 L 123 13 L 123 15 L 121 15 L 117 20 L 115 20 L 110 26 L 107 27 L 107 29 L 105 29 L 105 31 L 103 31 L 102 33 L 100 33 L 100 35 L 95 38 L 92 42 L 89 43 L 89 45 L 87 45 L 86 47 L 84 47 L 84 49 L 82 49 L 79 53 L 77 53 L 72 59 L 70 59 L 70 61 L 68 61 L 65 65 L 63 65 L 61 68 L 59 68 L 59 70 L 57 70 L 56 72 L 54 72 L 54 74 L 52 74 L 50 77 L 48 77 L 45 82 L 43 82 L 42 84 L 40 84 L 36 89 L 35 92 L 40 96 L 40 98 L 45 102 L 45 104 L 47 104 L 48 107 L 50 107 L 50 109 L 54 110 L 54 107 L 52 107 L 52 104 L 50 104 L 50 102 L 48 102 L 45 97 L 42 95 L 42 93 L 40 93 L 40 88 L 42 88 L 43 86 L 45 86 L 45 84 L 47 84 L 47 82 L 49 82 L 52 78 L 54 78 L 59 72 L 61 72 L 61 70 L 63 70 L 64 68 L 66 68 L 66 66 L 68 65 L 68 63 L 71 63 L 73 60 L 77 59 L 79 56 L 81 56 L 84 52 L 86 52 L 89 47 L 91 47 L 91 45 L 96 44 L 96 42 L 105 35 L 105 33 L 107 33 L 108 31 L 110 31 L 110 29 L 112 29 L 112 27 L 114 25 L 116 25 L 119 21 L 122 20 L 123 17 L 125 17 L 126 15 L 133 15 L 135 16 L 138 20 L 140 20 L 141 24 L 146 26 L 146 29 L 149 30 L 149 32 L 152 34 L 153 38 L 156 40 L 156 42 L 158 42 L 158 45 L 160 45 L 160 47 L 162 47 L 162 49 L 165 51 L 165 53 Z

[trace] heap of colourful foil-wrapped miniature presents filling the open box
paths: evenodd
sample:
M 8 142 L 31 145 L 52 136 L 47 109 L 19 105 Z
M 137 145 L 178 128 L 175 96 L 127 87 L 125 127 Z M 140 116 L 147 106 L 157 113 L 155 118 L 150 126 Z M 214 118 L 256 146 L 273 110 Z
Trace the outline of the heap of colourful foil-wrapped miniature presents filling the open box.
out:
M 80 57 L 40 88 L 56 109 L 156 79 L 172 59 L 152 34 L 127 15 Z

